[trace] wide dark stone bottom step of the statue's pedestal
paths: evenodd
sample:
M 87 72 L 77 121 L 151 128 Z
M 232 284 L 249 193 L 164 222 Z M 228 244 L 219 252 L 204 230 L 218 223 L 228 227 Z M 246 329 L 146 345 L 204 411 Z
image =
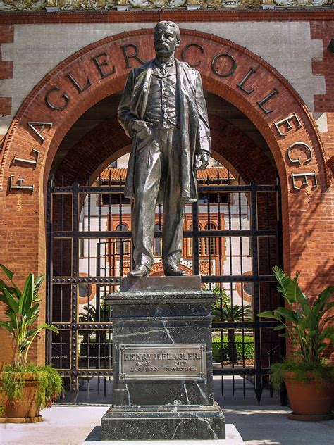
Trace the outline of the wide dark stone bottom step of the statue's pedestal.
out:
M 102 440 L 225 439 L 225 417 L 213 406 L 112 406 L 101 418 Z

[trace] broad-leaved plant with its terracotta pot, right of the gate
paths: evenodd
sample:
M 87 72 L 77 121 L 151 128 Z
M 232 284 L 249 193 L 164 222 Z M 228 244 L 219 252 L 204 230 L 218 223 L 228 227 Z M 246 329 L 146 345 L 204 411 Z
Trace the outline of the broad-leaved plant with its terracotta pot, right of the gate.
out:
M 287 387 L 294 420 L 327 420 L 332 418 L 332 387 L 334 367 L 326 363 L 323 350 L 334 342 L 334 326 L 330 296 L 334 286 L 327 287 L 312 302 L 298 285 L 296 272 L 293 280 L 278 267 L 273 268 L 278 280 L 278 292 L 283 294 L 286 306 L 259 313 L 259 317 L 273 318 L 280 325 L 274 330 L 285 330 L 286 337 L 295 346 L 294 356 L 271 366 L 271 381 L 278 389 L 282 382 Z

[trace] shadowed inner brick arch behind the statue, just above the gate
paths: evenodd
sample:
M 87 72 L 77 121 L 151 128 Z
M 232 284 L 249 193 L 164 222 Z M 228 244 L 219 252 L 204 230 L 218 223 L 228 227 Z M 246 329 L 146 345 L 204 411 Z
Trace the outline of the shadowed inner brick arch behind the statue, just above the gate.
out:
M 231 165 L 242 182 L 274 184 L 276 171 L 261 148 L 234 125 L 217 115 L 209 115 L 212 156 Z M 54 173 L 54 184 L 87 184 L 94 181 L 117 158 L 130 152 L 131 140 L 125 136 L 116 116 L 104 120 L 78 141 Z M 249 151 L 249 154 L 247 154 Z

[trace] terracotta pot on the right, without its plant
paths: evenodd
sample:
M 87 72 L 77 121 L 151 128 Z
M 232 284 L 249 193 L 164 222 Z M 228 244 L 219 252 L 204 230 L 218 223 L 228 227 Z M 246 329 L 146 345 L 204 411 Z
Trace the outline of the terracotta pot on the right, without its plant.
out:
M 298 381 L 293 372 L 285 376 L 287 395 L 293 412 L 293 420 L 328 420 L 332 415 L 333 382 L 316 382 L 312 375 L 307 380 Z

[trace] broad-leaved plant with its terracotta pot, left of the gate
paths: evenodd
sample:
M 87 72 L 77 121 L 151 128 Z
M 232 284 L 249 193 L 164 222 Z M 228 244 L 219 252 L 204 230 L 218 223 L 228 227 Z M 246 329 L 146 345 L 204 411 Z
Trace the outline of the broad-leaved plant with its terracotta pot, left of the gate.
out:
M 15 344 L 13 363 L 4 365 L 2 375 L 6 421 L 38 422 L 42 420 L 40 408 L 51 405 L 63 391 L 63 384 L 50 365 L 27 363 L 28 353 L 42 330 L 58 330 L 47 323 L 36 324 L 41 303 L 38 292 L 44 276 L 28 275 L 21 292 L 13 282 L 13 272 L 2 264 L 0 268 L 11 282 L 9 286 L 0 280 L 0 301 L 6 305 L 6 320 L 0 321 L 0 327 L 11 334 Z

